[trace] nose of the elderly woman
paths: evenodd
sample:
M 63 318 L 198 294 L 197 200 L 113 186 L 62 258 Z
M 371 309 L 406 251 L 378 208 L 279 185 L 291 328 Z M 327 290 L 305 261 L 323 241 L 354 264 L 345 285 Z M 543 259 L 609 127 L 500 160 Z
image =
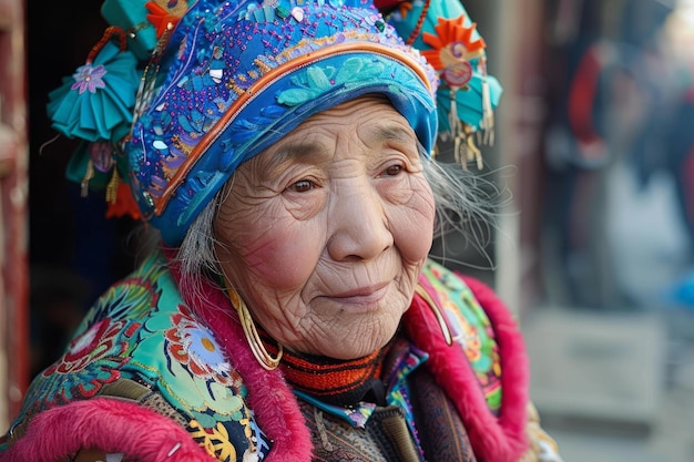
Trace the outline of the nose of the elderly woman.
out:
M 335 193 L 328 253 L 338 261 L 374 258 L 392 246 L 384 202 L 370 188 Z

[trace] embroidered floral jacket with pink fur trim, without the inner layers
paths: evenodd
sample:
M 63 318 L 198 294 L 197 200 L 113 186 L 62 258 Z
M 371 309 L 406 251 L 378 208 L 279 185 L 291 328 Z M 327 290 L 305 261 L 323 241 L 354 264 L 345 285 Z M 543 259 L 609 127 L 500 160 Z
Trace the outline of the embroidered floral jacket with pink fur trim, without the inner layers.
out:
M 32 382 L 0 462 L 96 460 L 90 451 L 106 461 L 312 460 L 306 403 L 299 409 L 279 370 L 256 363 L 223 291 L 210 286 L 184 301 L 177 277 L 154 256 L 96 301 Z M 427 371 L 477 459 L 560 461 L 528 401 L 524 347 L 506 307 L 433 261 L 419 286 L 404 330 L 429 355 Z

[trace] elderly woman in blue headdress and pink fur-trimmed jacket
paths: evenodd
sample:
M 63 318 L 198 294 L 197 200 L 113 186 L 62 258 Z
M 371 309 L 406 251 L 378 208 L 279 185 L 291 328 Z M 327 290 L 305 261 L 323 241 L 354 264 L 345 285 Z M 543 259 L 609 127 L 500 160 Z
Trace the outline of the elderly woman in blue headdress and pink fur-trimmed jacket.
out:
M 440 71 L 365 3 L 147 3 L 130 133 L 110 165 L 80 133 L 84 181 L 110 166 L 163 245 L 34 380 L 2 462 L 559 460 L 510 314 L 428 257 L 437 208 L 476 207 L 430 160 Z M 53 95 L 68 134 L 61 104 L 118 73 L 109 43 Z

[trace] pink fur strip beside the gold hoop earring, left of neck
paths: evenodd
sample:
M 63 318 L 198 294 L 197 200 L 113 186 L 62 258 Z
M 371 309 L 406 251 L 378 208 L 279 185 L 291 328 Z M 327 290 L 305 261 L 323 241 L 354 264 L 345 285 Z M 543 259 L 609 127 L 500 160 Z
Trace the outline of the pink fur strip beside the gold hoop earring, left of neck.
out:
M 180 281 L 177 268 L 172 268 Z M 208 326 L 233 358 L 234 368 L 244 378 L 248 389 L 248 407 L 258 425 L 273 441 L 266 462 L 307 462 L 312 460 L 313 444 L 304 415 L 282 371 L 266 371 L 251 352 L 246 337 L 232 304 L 224 291 L 205 281 L 203 294 L 185 297 L 190 290 L 181 290 L 182 297 L 193 312 Z

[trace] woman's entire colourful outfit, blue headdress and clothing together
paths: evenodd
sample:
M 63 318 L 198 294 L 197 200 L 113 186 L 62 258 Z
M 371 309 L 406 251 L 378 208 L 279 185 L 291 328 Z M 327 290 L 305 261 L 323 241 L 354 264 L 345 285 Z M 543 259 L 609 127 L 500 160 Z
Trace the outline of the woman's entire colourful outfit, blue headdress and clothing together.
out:
M 427 156 L 441 114 L 463 164 L 479 154 L 472 133 L 491 141 L 501 90 L 458 0 L 384 0 L 387 18 L 370 0 L 114 3 L 127 2 L 106 0 L 113 25 L 49 115 L 84 140 L 71 177 L 105 188 L 116 215 L 134 211 L 166 247 L 239 164 L 364 95 L 387 97 Z M 99 299 L 31 386 L 1 462 L 558 460 L 528 401 L 517 326 L 480 283 L 429 263 L 385 349 L 354 361 L 287 351 L 268 371 L 220 285 L 192 290 L 169 261 L 145 260 Z

